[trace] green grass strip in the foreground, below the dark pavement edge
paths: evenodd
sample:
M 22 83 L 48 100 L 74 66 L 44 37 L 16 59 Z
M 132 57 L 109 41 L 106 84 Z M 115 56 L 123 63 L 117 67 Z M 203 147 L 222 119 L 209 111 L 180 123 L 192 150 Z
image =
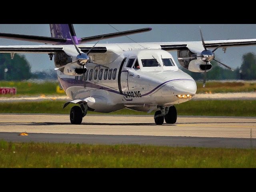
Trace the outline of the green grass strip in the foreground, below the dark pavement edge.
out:
M 0 167 L 256 168 L 256 149 L 12 143 L 0 140 Z

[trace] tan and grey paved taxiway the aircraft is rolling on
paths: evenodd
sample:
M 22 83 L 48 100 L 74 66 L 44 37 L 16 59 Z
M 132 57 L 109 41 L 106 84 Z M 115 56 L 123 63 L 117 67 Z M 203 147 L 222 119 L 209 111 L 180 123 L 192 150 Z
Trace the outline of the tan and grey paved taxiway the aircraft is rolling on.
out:
M 29 136 L 18 136 L 27 132 Z M 178 116 L 156 125 L 153 116 L 87 115 L 71 125 L 69 115 L 0 114 L 0 140 L 88 144 L 150 144 L 255 148 L 256 117 Z

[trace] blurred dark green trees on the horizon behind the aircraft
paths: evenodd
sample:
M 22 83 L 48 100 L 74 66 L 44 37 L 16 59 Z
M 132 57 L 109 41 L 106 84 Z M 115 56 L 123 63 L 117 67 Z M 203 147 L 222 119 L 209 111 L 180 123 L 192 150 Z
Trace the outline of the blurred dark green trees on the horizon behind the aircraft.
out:
M 212 70 L 207 72 L 207 80 L 256 80 L 256 55 L 254 53 L 244 54 L 241 67 L 234 71 L 220 67 L 214 60 L 211 61 L 211 64 Z M 4 72 L 5 68 L 8 68 L 7 72 Z M 180 68 L 195 80 L 203 79 L 204 73 L 190 72 L 183 67 Z M 54 70 L 32 73 L 31 66 L 24 55 L 15 54 L 14 58 L 11 59 L 9 53 L 0 54 L 0 80 L 28 80 L 31 78 L 57 80 L 57 74 Z

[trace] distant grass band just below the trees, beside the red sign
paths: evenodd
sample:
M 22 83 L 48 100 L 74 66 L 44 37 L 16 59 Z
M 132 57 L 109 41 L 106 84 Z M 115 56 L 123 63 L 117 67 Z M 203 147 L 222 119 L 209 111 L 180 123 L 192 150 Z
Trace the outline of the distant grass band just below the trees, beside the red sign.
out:
M 256 83 L 250 82 L 206 82 L 206 87 L 202 88 L 202 82 L 196 82 L 197 84 L 197 94 L 198 93 L 227 93 L 227 92 L 255 92 Z M 63 95 L 66 93 L 57 93 L 56 88 L 58 82 L 42 82 L 42 83 L 33 83 L 28 81 L 0 81 L 0 87 L 16 87 L 17 94 L 16 96 L 21 95 Z M 3 95 L 0 95 L 3 96 Z M 11 95 L 4 95 L 11 96 Z

